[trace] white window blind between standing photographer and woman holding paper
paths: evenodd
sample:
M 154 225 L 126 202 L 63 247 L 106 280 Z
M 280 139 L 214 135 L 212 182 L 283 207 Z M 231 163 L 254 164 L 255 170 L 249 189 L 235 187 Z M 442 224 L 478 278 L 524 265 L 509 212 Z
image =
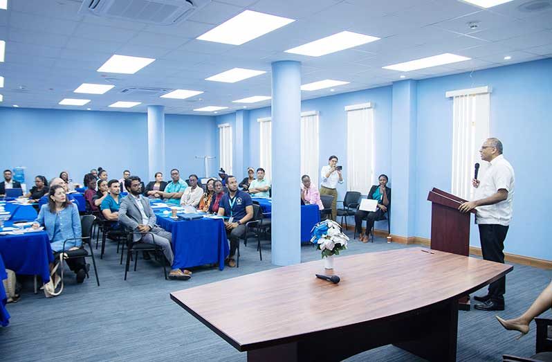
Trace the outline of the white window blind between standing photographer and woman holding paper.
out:
M 371 103 L 347 111 L 347 190 L 368 194 L 374 179 L 374 109 Z

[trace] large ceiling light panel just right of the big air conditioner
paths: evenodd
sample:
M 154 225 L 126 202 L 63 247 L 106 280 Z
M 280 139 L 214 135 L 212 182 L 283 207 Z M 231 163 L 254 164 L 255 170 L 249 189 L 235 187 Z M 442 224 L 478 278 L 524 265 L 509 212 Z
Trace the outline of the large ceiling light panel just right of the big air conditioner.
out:
M 241 45 L 277 28 L 293 23 L 293 21 L 295 20 L 286 17 L 246 10 L 196 39 L 205 40 L 206 42 Z

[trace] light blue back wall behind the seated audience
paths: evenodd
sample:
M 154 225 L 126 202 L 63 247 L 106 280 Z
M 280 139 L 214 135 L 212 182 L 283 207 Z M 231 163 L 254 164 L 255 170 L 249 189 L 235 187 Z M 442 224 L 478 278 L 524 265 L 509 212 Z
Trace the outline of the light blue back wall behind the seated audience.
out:
M 49 180 L 62 170 L 82 183 L 99 166 L 110 179 L 120 179 L 125 169 L 153 179 L 147 174 L 146 114 L 0 107 L 0 129 L 0 168 L 25 166 L 28 186 L 37 174 Z M 213 117 L 165 116 L 167 168 L 180 168 L 185 178 L 201 176 L 203 162 L 194 156 L 214 154 L 215 129 Z M 161 171 L 170 179 L 168 170 Z

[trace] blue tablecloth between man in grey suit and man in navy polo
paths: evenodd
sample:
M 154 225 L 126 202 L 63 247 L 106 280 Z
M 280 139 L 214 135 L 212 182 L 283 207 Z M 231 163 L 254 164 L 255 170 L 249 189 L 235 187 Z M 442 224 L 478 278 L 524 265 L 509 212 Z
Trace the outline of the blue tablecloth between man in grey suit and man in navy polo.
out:
M 224 269 L 224 260 L 230 253 L 226 229 L 222 219 L 173 220 L 159 215 L 168 209 L 155 209 L 157 224 L 172 233 L 174 251 L 173 268 L 189 268 L 219 263 Z

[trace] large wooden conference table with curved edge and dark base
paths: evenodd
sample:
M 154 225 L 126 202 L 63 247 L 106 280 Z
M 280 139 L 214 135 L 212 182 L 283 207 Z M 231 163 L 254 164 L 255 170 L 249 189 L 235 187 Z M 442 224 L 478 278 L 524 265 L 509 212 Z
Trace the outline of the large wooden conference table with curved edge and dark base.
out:
M 318 260 L 171 293 L 248 361 L 341 361 L 394 344 L 455 361 L 458 298 L 513 266 L 404 248 L 340 256 L 331 284 Z M 183 354 L 185 352 L 183 351 Z

